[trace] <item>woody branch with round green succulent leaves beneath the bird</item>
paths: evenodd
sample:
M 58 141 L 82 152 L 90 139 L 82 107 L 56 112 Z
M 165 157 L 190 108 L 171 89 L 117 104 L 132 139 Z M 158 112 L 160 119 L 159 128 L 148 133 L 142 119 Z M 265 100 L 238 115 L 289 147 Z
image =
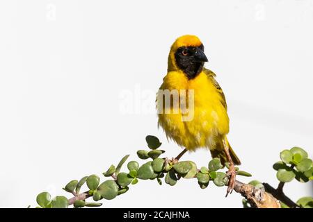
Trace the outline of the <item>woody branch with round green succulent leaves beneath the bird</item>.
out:
M 192 161 L 174 161 L 168 157 L 160 157 L 165 151 L 160 150 L 161 142 L 157 137 L 147 136 L 147 150 L 140 150 L 137 155 L 142 160 L 149 160 L 139 165 L 138 162 L 132 160 L 127 163 L 127 172 L 121 172 L 122 166 L 127 162 L 129 155 L 126 155 L 119 162 L 117 167 L 113 164 L 103 173 L 104 177 L 110 178 L 100 184 L 99 176 L 93 174 L 85 176 L 81 180 L 72 180 L 63 188 L 65 191 L 73 195 L 67 199 L 65 196 L 56 196 L 51 199 L 48 192 L 42 192 L 37 196 L 39 208 L 66 208 L 69 205 L 74 207 L 99 207 L 102 203 L 97 203 L 99 200 L 111 200 L 116 196 L 125 194 L 130 185 L 136 185 L 139 180 L 157 180 L 159 185 L 163 181 L 170 186 L 176 185 L 180 179 L 198 180 L 198 185 L 201 189 L 206 189 L 209 182 L 213 182 L 218 187 L 228 185 L 228 178 L 225 172 L 221 171 L 224 166 L 220 159 L 214 158 L 209 161 L 207 167 L 198 169 L 195 162 Z M 280 180 L 278 189 L 274 189 L 271 185 L 262 184 L 257 180 L 252 180 L 249 184 L 245 184 L 236 180 L 234 191 L 241 194 L 243 207 L 313 207 L 313 198 L 300 198 L 297 203 L 294 203 L 284 195 L 282 188 L 285 182 L 290 182 L 294 178 L 300 182 L 312 180 L 312 160 L 307 157 L 307 153 L 298 147 L 285 150 L 280 153 L 281 162 L 274 164 L 273 168 L 278 171 L 277 177 Z M 289 166 L 290 165 L 290 166 Z M 229 168 L 226 163 L 225 167 Z M 296 169 L 294 169 L 296 167 Z M 240 171 L 236 167 L 236 175 L 251 176 L 246 171 Z M 81 187 L 87 185 L 88 190 L 81 193 Z M 95 202 L 87 202 L 88 198 L 93 198 Z M 280 203 L 278 202 L 280 200 Z

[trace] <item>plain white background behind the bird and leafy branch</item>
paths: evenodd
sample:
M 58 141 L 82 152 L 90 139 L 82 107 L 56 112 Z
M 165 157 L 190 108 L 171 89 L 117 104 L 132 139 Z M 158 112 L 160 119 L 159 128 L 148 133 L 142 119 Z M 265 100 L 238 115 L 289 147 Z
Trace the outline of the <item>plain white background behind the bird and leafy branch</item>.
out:
M 176 156 L 157 129 L 154 100 L 170 45 L 184 34 L 200 37 L 224 89 L 241 169 L 276 186 L 272 164 L 282 149 L 301 146 L 312 157 L 310 0 L 10 0 L 0 3 L 0 27 L 0 207 L 35 207 L 41 191 L 67 195 L 68 181 L 101 175 L 128 153 L 136 160 L 145 135 Z M 200 150 L 183 160 L 209 158 Z M 285 189 L 294 200 L 312 195 L 308 183 Z M 196 180 L 140 181 L 103 202 L 241 207 L 239 194 L 224 196 L 225 187 L 202 190 Z

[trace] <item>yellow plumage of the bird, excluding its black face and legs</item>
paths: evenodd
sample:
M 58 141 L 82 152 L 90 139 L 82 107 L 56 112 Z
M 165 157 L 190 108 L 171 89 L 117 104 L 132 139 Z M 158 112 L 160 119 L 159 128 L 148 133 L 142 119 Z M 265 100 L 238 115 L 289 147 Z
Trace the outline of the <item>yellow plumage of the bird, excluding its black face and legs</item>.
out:
M 168 56 L 168 74 L 163 78 L 160 89 L 193 89 L 194 113 L 191 121 L 182 121 L 184 115 L 179 109 L 178 113 L 159 113 L 159 126 L 163 128 L 167 137 L 188 151 L 197 148 L 209 148 L 213 157 L 220 157 L 223 163 L 227 162 L 223 139 L 229 132 L 229 118 L 225 96 L 214 79 L 215 74 L 209 69 L 202 69 L 195 78 L 189 79 L 184 71 L 179 69 L 175 60 L 175 52 L 182 46 L 200 46 L 202 43 L 194 35 L 179 37 L 170 49 Z M 186 98 L 185 98 L 186 96 Z M 179 95 L 179 105 L 183 100 L 188 100 L 188 93 Z M 158 104 L 161 105 L 161 104 Z M 172 104 L 170 111 L 175 107 Z M 225 138 L 226 139 L 226 138 Z M 227 141 L 227 139 L 226 139 Z M 228 142 L 227 142 L 228 143 Z M 230 155 L 234 164 L 240 164 L 238 157 L 230 148 Z

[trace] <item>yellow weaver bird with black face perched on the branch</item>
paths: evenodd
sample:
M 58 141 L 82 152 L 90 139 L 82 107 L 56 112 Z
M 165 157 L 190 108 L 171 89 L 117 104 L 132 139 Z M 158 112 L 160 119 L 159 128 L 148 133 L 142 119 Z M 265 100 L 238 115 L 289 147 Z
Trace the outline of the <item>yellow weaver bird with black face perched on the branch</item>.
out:
M 198 148 L 209 148 L 211 156 L 219 157 L 223 165 L 229 162 L 229 194 L 236 177 L 234 165 L 241 163 L 226 137 L 229 118 L 225 95 L 215 80 L 216 75 L 204 68 L 204 62 L 208 62 L 204 46 L 195 35 L 184 35 L 172 44 L 168 74 L 163 78 L 157 95 L 158 125 L 166 137 L 184 147 L 184 151 L 174 159 L 176 162 L 186 151 Z M 165 92 L 170 95 L 170 104 L 166 104 Z M 184 120 L 188 115 L 186 110 L 191 118 Z

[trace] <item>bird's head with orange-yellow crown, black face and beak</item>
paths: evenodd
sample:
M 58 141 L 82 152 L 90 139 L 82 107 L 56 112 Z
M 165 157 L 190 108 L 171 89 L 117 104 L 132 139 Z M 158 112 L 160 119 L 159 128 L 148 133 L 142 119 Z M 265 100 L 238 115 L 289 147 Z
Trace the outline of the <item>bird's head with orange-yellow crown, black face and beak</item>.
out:
M 168 71 L 183 71 L 188 79 L 195 78 L 207 62 L 204 46 L 195 35 L 183 35 L 172 44 L 168 56 Z

